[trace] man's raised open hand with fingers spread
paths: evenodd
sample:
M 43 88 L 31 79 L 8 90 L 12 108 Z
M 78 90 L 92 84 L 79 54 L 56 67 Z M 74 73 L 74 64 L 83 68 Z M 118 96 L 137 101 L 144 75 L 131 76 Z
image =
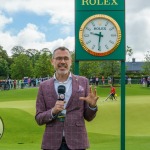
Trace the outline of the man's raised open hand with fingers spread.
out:
M 92 86 L 90 86 L 90 91 L 88 96 L 80 97 L 79 99 L 86 101 L 91 108 L 96 107 L 97 100 L 99 99 L 99 97 L 97 96 L 96 87 L 94 87 L 94 90 L 92 90 Z

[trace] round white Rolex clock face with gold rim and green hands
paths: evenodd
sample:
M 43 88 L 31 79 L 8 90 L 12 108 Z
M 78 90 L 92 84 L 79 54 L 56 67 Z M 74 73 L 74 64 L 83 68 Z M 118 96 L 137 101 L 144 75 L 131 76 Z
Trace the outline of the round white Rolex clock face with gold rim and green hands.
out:
M 110 16 L 98 14 L 87 18 L 80 27 L 80 43 L 95 56 L 111 54 L 120 44 L 121 30 Z

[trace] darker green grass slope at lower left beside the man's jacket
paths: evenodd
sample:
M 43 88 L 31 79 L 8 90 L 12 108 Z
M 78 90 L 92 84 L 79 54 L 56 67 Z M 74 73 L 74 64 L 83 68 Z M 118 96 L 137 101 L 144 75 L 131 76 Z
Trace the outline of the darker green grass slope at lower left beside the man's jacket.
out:
M 39 149 L 43 128 L 37 126 L 33 115 L 15 108 L 1 108 L 4 121 L 4 135 L 0 141 L 1 150 Z M 11 147 L 10 147 L 11 145 Z

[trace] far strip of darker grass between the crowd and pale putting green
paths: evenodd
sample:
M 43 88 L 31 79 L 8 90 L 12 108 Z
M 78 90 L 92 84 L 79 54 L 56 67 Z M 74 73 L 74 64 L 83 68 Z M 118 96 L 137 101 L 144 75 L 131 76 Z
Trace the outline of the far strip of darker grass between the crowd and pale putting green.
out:
M 0 91 L 0 102 L 2 101 L 22 101 L 22 100 L 35 100 L 38 88 L 24 88 L 17 90 Z M 116 92 L 120 95 L 120 87 L 116 87 Z M 97 94 L 100 97 L 107 97 L 110 93 L 109 86 L 98 86 Z M 126 86 L 126 95 L 150 95 L 150 88 L 142 87 L 141 85 Z

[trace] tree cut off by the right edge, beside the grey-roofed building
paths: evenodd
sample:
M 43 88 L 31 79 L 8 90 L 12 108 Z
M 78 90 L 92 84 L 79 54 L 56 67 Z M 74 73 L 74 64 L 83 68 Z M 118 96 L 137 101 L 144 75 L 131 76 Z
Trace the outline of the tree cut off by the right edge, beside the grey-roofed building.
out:
M 145 54 L 145 62 L 142 68 L 143 68 L 144 74 L 150 75 L 150 52 L 149 51 L 147 51 L 147 53 Z

